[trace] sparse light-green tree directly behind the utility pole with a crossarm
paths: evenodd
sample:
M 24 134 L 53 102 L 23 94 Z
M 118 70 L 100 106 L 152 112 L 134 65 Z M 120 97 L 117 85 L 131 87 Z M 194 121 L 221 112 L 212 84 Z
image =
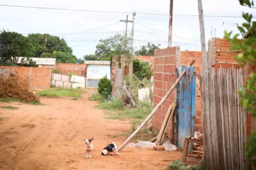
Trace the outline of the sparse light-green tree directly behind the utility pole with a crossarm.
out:
M 96 46 L 96 56 L 100 56 L 101 60 L 111 60 L 114 58 L 120 62 L 120 56 L 124 54 L 124 37 L 125 35 L 116 34 L 109 38 L 100 40 L 100 43 Z M 126 56 L 129 58 L 129 54 L 132 50 L 132 39 L 130 35 L 126 37 Z

